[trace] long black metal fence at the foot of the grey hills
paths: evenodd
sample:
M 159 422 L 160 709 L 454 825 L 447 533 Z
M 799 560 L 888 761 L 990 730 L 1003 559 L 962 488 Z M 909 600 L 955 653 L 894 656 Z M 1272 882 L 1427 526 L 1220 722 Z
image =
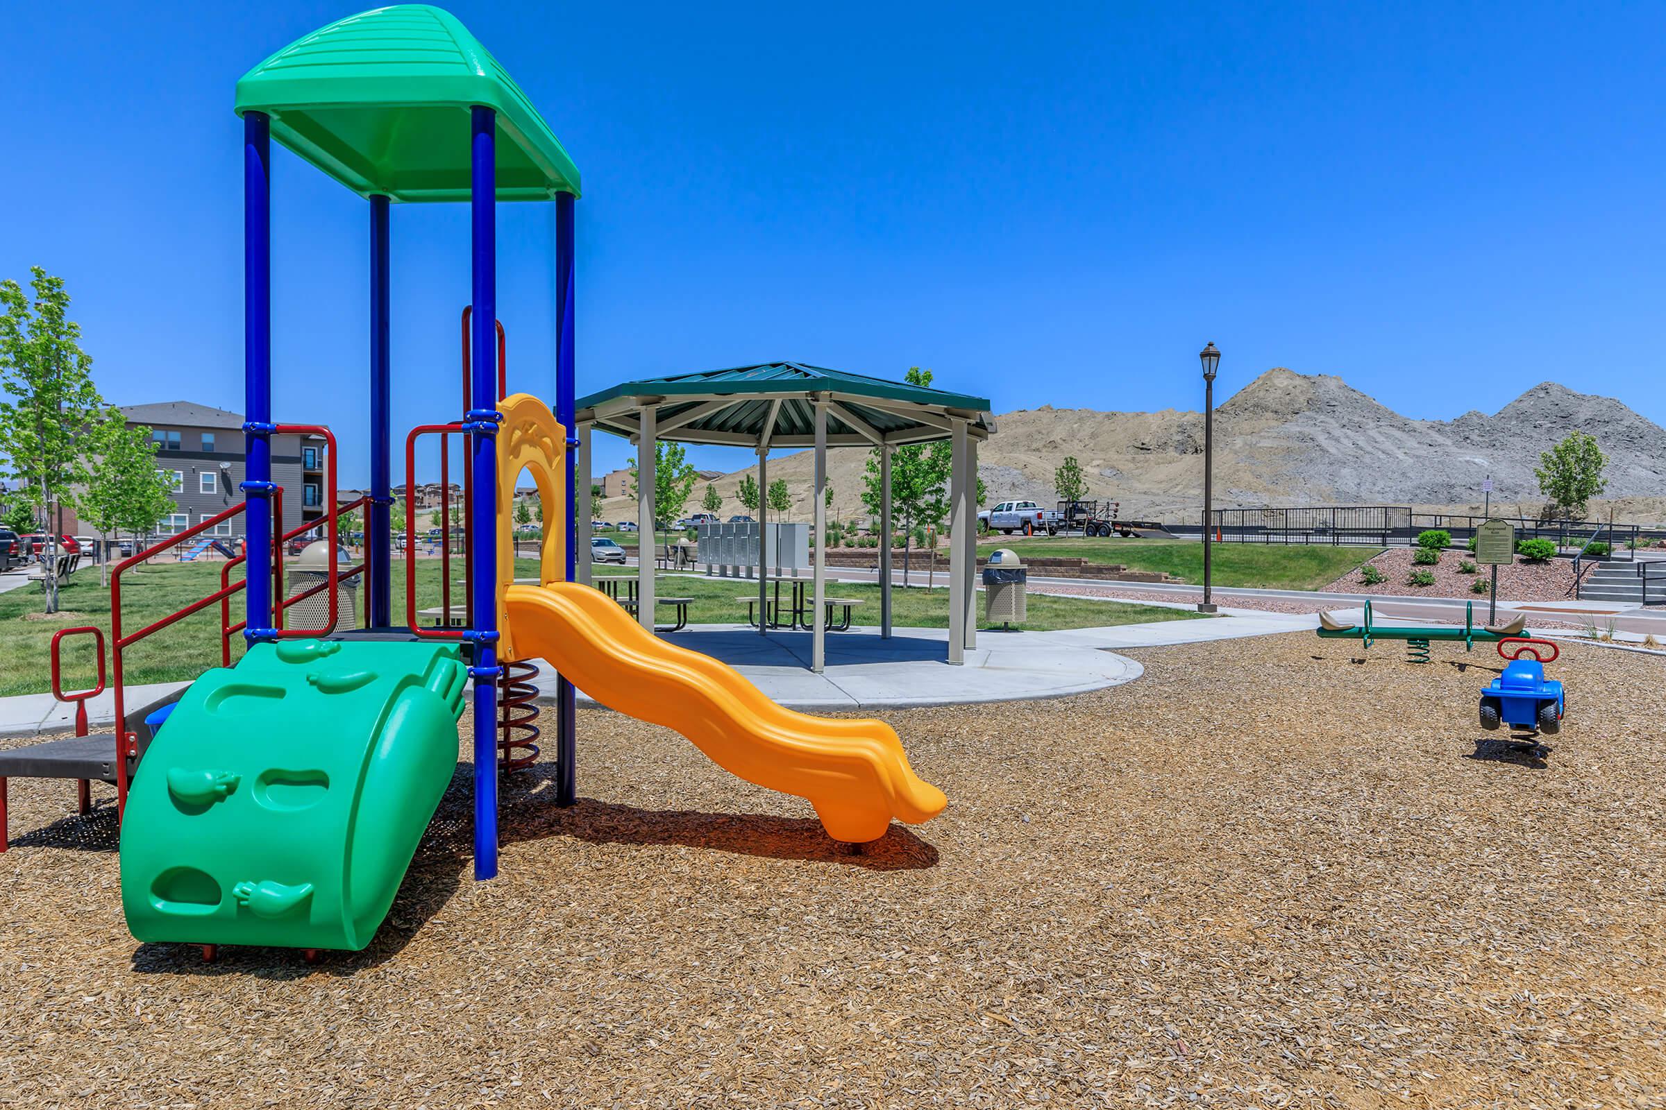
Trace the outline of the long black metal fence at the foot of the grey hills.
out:
M 1215 509 L 1211 531 L 1226 544 L 1333 544 L 1333 546 L 1409 546 L 1428 529 L 1451 533 L 1453 543 L 1464 546 L 1484 516 L 1456 513 L 1414 513 L 1398 504 L 1343 504 L 1293 509 Z M 1606 521 L 1529 521 L 1504 518 L 1516 526 L 1516 539 L 1549 539 L 1559 551 L 1583 551 L 1586 544 L 1606 543 L 1611 559 L 1633 559 L 1643 543 L 1666 536 L 1661 529 Z

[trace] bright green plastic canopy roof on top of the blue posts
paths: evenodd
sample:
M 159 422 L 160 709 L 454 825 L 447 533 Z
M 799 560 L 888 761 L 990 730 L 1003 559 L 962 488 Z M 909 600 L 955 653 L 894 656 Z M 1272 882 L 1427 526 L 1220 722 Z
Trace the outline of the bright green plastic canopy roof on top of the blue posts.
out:
M 237 115 L 362 196 L 468 200 L 470 108 L 498 113 L 498 200 L 578 195 L 578 170 L 491 52 L 425 3 L 373 8 L 292 42 L 237 82 Z

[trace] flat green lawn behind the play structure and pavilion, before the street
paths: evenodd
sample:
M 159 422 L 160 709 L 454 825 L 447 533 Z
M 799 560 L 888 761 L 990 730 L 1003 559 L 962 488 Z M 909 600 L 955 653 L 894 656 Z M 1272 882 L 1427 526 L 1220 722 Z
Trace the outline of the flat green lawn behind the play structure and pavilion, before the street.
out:
M 220 562 L 172 562 L 128 571 L 122 577 L 122 627 L 132 636 L 147 624 L 158 621 L 170 612 L 203 597 L 220 587 Z M 598 567 L 600 569 L 600 567 Z M 242 567 L 233 572 L 233 581 Z M 463 576 L 461 562 L 453 562 L 453 579 Z M 518 576 L 535 576 L 536 561 L 516 559 Z M 405 561 L 393 559 L 393 617 L 403 622 L 405 617 Z M 746 579 L 706 579 L 690 576 L 660 574 L 658 594 L 661 597 L 695 597 L 690 606 L 690 622 L 693 624 L 738 624 L 746 617 L 745 602 L 735 601 L 751 596 L 758 589 L 755 581 Z M 791 587 L 783 586 L 783 599 L 791 597 Z M 860 597 L 865 604 L 856 609 L 856 624 L 880 622 L 880 587 L 871 584 L 828 582 L 828 596 Z M 898 626 L 915 627 L 948 627 L 948 587 L 936 589 L 901 589 L 891 594 Z M 451 602 L 461 604 L 463 591 L 460 584 L 451 587 Z M 52 687 L 52 636 L 62 627 L 92 624 L 105 632 L 107 651 L 110 639 L 110 591 L 98 584 L 95 569 L 80 571 L 60 589 L 63 612 L 40 617 L 40 587 L 23 586 L 7 594 L 0 594 L 0 646 L 5 651 L 5 667 L 0 669 L 0 696 L 38 694 Z M 440 604 L 440 562 L 438 559 L 416 561 L 416 607 L 426 609 Z M 360 601 L 363 612 L 363 601 Z M 243 614 L 242 592 L 232 596 L 232 619 L 240 621 Z M 980 601 L 981 614 L 981 601 Z M 665 622 L 670 611 L 665 611 Z M 1030 597 L 1031 629 L 1065 629 L 1096 627 L 1110 624 L 1140 624 L 1146 621 L 1188 619 L 1191 612 L 1181 609 L 1161 609 L 1156 606 L 1140 606 L 1126 602 L 1091 601 L 1083 597 Z M 87 689 L 95 681 L 92 636 L 72 636 L 63 642 L 63 686 L 68 691 Z M 242 634 L 232 637 L 232 659 L 243 652 Z M 123 652 L 123 677 L 128 686 L 140 682 L 170 682 L 193 679 L 208 667 L 220 666 L 220 607 L 210 606 L 195 612 L 145 639 L 132 644 Z M 108 654 L 107 654 L 108 662 Z M 110 681 L 115 679 L 112 672 Z

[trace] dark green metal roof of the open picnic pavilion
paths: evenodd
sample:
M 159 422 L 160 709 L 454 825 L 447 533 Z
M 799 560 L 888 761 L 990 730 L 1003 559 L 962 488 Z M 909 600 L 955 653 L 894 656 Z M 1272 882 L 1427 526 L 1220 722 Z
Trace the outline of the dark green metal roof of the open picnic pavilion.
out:
M 775 448 L 815 444 L 815 398 L 826 396 L 828 446 L 946 439 L 953 421 L 976 438 L 995 431 L 990 401 L 805 363 L 760 363 L 626 381 L 580 398 L 578 419 L 635 438 L 655 404 L 658 439 Z

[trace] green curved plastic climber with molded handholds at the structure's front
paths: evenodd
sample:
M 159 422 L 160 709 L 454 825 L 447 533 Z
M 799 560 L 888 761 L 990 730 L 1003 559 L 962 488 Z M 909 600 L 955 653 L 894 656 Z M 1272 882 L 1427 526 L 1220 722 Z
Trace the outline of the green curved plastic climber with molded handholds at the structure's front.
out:
M 283 641 L 208 671 L 157 732 L 122 822 L 138 940 L 370 944 L 456 769 L 450 644 Z

